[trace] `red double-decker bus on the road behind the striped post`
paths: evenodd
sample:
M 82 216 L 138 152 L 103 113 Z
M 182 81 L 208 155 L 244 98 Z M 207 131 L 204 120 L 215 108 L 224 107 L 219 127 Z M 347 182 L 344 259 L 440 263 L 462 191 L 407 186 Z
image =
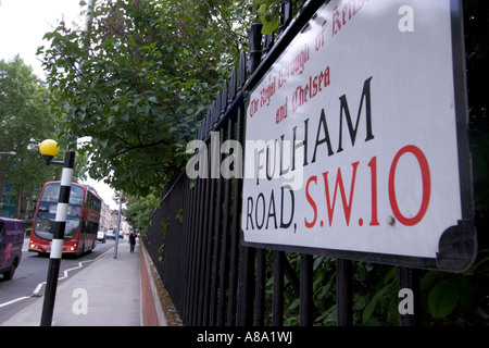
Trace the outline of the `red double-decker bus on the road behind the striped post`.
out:
M 46 183 L 34 215 L 29 251 L 36 251 L 39 254 L 51 251 L 59 197 L 60 182 Z M 95 191 L 87 186 L 72 183 L 63 253 L 80 256 L 95 249 L 101 207 L 101 199 Z

